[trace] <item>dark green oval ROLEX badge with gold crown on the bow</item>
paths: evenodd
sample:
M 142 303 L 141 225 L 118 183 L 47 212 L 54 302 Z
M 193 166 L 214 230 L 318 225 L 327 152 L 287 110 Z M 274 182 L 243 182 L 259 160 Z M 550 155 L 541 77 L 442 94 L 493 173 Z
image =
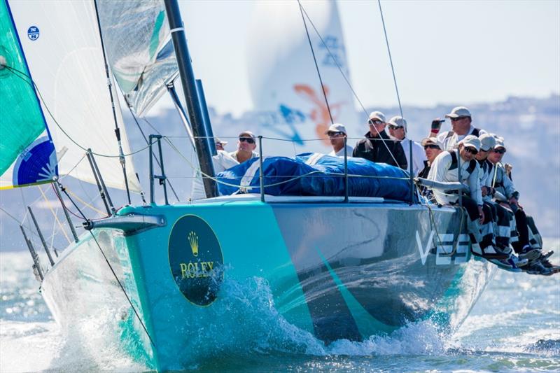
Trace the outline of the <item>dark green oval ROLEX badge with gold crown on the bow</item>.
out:
M 223 281 L 223 254 L 214 230 L 202 218 L 179 218 L 169 235 L 169 266 L 173 279 L 186 299 L 208 306 Z

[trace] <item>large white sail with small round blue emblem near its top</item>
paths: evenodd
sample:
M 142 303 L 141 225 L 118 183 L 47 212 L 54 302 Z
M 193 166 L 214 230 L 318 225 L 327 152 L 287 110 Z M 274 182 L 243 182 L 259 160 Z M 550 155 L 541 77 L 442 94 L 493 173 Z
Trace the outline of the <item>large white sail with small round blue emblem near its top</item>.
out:
M 83 148 L 118 156 L 118 143 L 94 3 L 26 0 L 9 1 L 9 5 L 55 148 L 59 154 L 66 149 L 59 159 L 59 174 L 73 169 L 71 176 L 95 183 L 87 159 L 76 167 L 85 155 Z M 38 38 L 28 36 L 31 26 L 38 28 Z M 123 152 L 128 154 L 114 87 Z M 107 186 L 125 189 L 118 157 L 97 155 L 95 160 Z M 139 192 L 132 157 L 127 157 L 127 178 L 130 190 Z

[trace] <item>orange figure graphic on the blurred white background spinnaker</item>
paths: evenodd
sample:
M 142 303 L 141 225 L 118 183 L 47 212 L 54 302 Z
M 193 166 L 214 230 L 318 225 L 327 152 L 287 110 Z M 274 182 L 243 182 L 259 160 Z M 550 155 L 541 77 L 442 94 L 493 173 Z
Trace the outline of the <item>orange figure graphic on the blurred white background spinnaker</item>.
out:
M 318 139 L 323 139 L 323 143 L 326 146 L 330 146 L 330 142 L 328 139 L 324 139 L 325 131 L 330 127 L 330 115 L 328 113 L 328 106 L 325 103 L 325 99 L 323 97 L 323 92 L 315 92 L 313 88 L 306 84 L 296 84 L 293 86 L 293 89 L 300 97 L 306 99 L 307 101 L 311 102 L 314 105 L 311 108 L 311 113 L 309 113 L 309 117 L 311 120 L 315 122 L 315 133 L 317 134 Z M 325 90 L 325 96 L 328 99 L 329 90 L 326 85 L 323 85 L 323 90 Z M 340 110 L 342 105 L 345 102 L 337 102 L 331 103 L 329 102 L 330 106 L 330 114 L 332 115 L 332 121 L 337 122 L 337 118 L 340 114 Z

